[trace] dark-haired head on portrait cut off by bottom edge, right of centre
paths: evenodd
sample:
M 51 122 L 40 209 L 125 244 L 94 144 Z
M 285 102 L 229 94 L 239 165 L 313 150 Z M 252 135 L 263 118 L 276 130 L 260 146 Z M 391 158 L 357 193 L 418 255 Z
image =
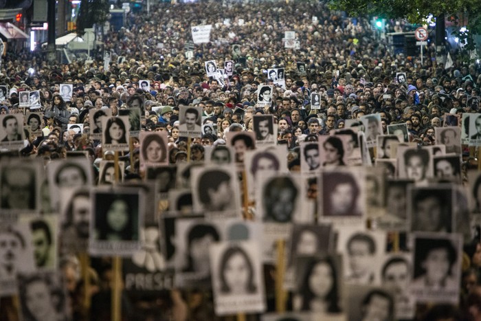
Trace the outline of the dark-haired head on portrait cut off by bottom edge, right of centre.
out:
M 362 320 L 391 320 L 394 300 L 385 291 L 373 289 L 361 302 Z

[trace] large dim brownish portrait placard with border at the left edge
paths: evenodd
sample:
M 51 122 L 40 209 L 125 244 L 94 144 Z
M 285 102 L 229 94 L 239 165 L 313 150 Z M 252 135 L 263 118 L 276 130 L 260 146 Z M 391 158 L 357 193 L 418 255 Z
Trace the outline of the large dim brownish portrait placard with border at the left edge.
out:
M 38 162 L 0 164 L 0 212 L 32 212 L 39 208 L 39 165 Z

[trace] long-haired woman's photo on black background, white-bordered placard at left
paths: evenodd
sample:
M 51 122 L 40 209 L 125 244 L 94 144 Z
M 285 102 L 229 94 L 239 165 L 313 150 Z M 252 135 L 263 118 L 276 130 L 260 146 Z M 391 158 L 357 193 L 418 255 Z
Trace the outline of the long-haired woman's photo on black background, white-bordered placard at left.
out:
M 100 197 L 102 198 L 100 199 Z M 138 199 L 131 195 L 97 195 L 96 198 L 96 202 L 102 203 L 96 211 L 98 213 L 96 216 L 96 239 L 102 241 L 137 240 L 135 211 L 138 208 Z

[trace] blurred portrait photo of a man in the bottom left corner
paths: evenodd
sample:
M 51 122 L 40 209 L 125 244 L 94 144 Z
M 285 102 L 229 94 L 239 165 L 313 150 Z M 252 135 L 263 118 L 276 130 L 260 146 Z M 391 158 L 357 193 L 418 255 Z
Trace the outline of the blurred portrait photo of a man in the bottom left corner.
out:
M 69 320 L 68 296 L 60 274 L 19 274 L 18 280 L 23 320 Z

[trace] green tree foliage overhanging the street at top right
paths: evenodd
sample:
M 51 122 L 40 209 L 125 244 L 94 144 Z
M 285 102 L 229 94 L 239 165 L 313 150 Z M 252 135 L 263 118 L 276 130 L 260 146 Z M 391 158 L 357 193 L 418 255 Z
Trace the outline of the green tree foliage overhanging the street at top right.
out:
M 458 23 L 458 14 L 467 16 L 468 32 L 457 32 L 460 40 L 466 40 L 465 49 L 474 49 L 473 37 L 481 34 L 481 6 L 479 0 L 328 0 L 334 10 L 346 11 L 350 16 L 374 15 L 385 19 L 405 18 L 410 23 L 424 23 L 427 16 L 447 16 Z

